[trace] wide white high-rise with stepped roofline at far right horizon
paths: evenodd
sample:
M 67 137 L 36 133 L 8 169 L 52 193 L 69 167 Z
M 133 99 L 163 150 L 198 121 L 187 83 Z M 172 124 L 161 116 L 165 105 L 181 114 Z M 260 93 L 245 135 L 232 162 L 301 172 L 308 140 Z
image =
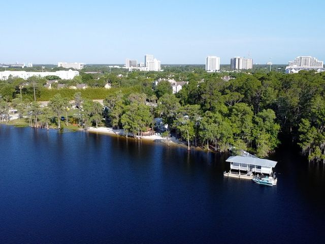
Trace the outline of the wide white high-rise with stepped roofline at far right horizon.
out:
M 318 61 L 317 58 L 312 56 L 299 56 L 293 61 L 289 61 L 287 67 L 285 67 L 285 73 L 298 73 L 301 70 L 315 70 L 317 72 L 323 72 L 323 61 Z

